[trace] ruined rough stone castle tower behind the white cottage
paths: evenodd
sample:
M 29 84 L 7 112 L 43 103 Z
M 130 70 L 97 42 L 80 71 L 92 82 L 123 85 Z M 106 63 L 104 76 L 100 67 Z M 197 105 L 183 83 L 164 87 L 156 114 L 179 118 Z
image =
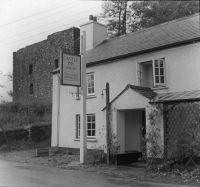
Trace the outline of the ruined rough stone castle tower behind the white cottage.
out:
M 70 28 L 49 35 L 47 40 L 27 46 L 13 53 L 13 100 L 21 102 L 44 102 L 50 104 L 52 75 L 60 49 L 79 54 L 78 28 Z M 32 65 L 32 73 L 30 73 Z M 33 93 L 30 85 L 33 85 Z

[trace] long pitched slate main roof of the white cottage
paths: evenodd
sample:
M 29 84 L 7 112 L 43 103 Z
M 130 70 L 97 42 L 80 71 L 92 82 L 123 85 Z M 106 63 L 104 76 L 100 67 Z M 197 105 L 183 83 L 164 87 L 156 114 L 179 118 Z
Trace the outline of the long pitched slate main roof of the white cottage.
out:
M 200 41 L 199 14 L 103 41 L 87 52 L 87 66 Z

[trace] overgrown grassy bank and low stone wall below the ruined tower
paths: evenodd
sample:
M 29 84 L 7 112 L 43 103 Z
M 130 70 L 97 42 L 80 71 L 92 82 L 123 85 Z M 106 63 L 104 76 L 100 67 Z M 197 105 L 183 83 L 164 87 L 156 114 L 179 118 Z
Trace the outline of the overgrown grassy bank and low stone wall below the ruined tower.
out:
M 43 122 L 45 124 L 51 122 L 51 105 L 19 102 L 1 104 L 0 145 L 17 140 L 40 142 L 49 139 L 51 127 L 41 126 Z

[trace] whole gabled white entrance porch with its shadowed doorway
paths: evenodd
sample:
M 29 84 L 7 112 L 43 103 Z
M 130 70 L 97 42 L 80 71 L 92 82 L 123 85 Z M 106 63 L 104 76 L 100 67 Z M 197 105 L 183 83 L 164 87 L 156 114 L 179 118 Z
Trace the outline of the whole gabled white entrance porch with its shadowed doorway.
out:
M 149 124 L 149 101 L 155 93 L 150 88 L 127 85 L 111 101 L 112 132 L 119 144 L 118 163 L 130 164 L 143 157 Z

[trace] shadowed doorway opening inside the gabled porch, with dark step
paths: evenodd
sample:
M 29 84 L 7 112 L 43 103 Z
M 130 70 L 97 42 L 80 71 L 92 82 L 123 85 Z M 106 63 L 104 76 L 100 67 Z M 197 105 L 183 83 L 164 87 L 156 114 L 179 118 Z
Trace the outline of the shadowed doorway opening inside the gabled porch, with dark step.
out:
M 120 137 L 118 164 L 130 164 L 142 159 L 146 148 L 145 109 L 128 109 L 117 111 L 117 136 Z

